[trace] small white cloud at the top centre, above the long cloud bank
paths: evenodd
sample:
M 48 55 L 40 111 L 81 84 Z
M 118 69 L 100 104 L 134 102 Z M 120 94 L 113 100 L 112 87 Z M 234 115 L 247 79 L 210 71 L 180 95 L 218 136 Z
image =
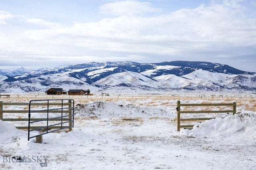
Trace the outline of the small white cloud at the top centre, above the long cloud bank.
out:
M 157 13 L 159 11 L 160 8 L 153 8 L 151 3 L 139 1 L 110 2 L 100 6 L 102 14 L 114 16 L 134 16 L 144 13 Z

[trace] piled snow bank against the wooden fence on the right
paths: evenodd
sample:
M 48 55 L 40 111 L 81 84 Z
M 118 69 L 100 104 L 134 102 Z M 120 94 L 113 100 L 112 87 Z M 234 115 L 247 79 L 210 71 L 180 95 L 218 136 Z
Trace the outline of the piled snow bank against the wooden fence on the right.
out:
M 184 129 L 181 133 L 189 137 L 240 135 L 256 139 L 256 112 L 244 111 L 224 119 L 211 119 L 194 125 L 192 130 Z

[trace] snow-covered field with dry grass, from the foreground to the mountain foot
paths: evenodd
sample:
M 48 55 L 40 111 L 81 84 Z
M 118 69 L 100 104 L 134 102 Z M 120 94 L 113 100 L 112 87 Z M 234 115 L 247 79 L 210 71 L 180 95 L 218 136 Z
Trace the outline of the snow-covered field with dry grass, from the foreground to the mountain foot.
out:
M 2 102 L 70 98 L 75 101 L 72 131 L 28 141 L 15 122 L 0 121 L 0 169 L 24 170 L 254 170 L 256 96 L 250 93 L 109 93 L 110 96 L 11 94 Z M 233 103 L 238 114 L 176 131 L 176 105 Z M 10 106 L 17 109 L 16 106 Z M 19 108 L 20 109 L 20 108 Z M 26 117 L 26 114 L 19 117 Z M 206 114 L 186 115 L 202 117 Z M 11 115 L 4 115 L 11 116 Z M 208 115 L 206 115 L 208 116 Z M 12 123 L 12 124 L 11 124 Z M 17 160 L 18 158 L 23 160 Z

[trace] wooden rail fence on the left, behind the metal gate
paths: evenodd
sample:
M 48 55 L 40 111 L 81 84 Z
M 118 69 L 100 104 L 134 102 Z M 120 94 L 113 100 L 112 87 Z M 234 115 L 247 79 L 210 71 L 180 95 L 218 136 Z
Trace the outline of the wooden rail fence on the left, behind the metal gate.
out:
M 71 100 L 69 100 L 69 102 L 65 102 L 65 103 L 32 103 L 31 106 L 36 106 L 36 107 L 44 107 L 44 106 L 52 106 L 52 107 L 58 107 L 58 106 L 68 106 L 71 107 Z M 5 107 L 4 107 L 5 106 Z M 15 106 L 16 108 L 19 109 L 10 109 L 8 107 L 10 106 Z M 8 102 L 0 102 L 0 120 L 2 121 L 24 121 L 26 123 L 28 123 L 28 118 L 19 118 L 22 117 L 22 113 L 24 115 L 24 113 L 27 113 L 27 117 L 28 117 L 28 113 L 29 113 L 29 107 L 26 108 L 21 108 L 22 106 L 29 106 L 29 103 L 8 103 Z M 7 109 L 6 109 L 7 107 Z M 14 108 L 14 107 L 12 107 Z M 46 110 L 42 110 L 42 111 L 38 111 L 38 113 L 48 113 L 50 109 L 46 109 Z M 36 109 L 34 110 L 36 111 Z M 6 114 L 8 113 L 14 113 L 16 118 L 4 118 L 6 116 Z M 70 109 L 63 109 L 63 110 L 52 110 L 50 111 L 50 113 L 66 113 L 68 115 L 72 115 L 72 110 Z M 40 120 L 44 120 L 45 118 L 30 118 L 30 121 L 40 121 Z M 68 118 L 56 118 L 56 119 L 50 119 L 50 121 L 72 121 L 72 117 L 68 117 Z M 72 126 L 72 124 L 70 123 L 69 126 Z M 42 126 L 32 126 L 30 127 L 30 129 L 38 129 Z M 28 125 L 27 126 L 16 126 L 17 129 L 28 129 Z M 52 126 L 51 129 L 60 129 L 60 126 Z M 62 127 L 63 128 L 63 127 Z M 72 128 L 69 128 L 69 131 L 71 131 Z

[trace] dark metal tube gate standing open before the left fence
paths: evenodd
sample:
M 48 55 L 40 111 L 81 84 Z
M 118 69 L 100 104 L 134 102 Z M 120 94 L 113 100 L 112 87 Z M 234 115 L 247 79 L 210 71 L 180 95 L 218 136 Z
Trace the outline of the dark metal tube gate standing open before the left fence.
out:
M 28 141 L 31 138 L 62 129 L 72 131 L 72 127 L 74 127 L 74 100 L 30 100 Z M 40 134 L 31 136 L 32 131 L 40 131 Z

